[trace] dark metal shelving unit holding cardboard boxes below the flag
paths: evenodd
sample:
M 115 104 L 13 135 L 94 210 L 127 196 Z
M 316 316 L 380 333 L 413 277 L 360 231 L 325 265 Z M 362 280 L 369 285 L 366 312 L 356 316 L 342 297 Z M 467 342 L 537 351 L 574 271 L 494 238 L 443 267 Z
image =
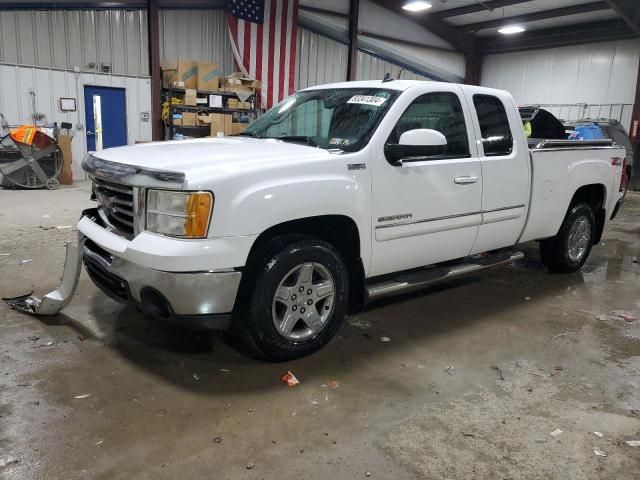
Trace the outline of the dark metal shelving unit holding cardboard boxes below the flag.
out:
M 186 90 L 184 88 L 163 88 L 162 89 L 162 102 L 170 102 L 171 99 L 176 96 L 184 95 Z M 194 137 L 206 137 L 209 135 L 211 131 L 210 125 L 175 125 L 173 123 L 173 114 L 175 112 L 180 111 L 192 111 L 192 112 L 208 112 L 208 113 L 221 113 L 221 114 L 236 114 L 236 115 L 249 115 L 251 121 L 255 120 L 258 111 L 255 108 L 255 93 L 252 94 L 246 101 L 251 102 L 253 108 L 251 109 L 241 109 L 241 108 L 228 108 L 228 101 L 230 98 L 238 98 L 235 92 L 219 92 L 212 90 L 196 90 L 196 95 L 198 97 L 205 96 L 207 99 L 209 95 L 219 95 L 222 97 L 223 107 L 209 107 L 208 102 L 207 105 L 169 105 L 169 116 L 165 120 L 165 140 L 172 140 L 176 131 L 184 131 L 189 132 L 189 136 Z

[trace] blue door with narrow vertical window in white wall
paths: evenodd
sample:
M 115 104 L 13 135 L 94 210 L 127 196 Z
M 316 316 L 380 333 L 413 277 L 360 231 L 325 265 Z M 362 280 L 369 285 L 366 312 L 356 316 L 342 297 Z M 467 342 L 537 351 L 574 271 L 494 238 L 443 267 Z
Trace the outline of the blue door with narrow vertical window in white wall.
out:
M 84 87 L 87 150 L 127 144 L 124 88 Z

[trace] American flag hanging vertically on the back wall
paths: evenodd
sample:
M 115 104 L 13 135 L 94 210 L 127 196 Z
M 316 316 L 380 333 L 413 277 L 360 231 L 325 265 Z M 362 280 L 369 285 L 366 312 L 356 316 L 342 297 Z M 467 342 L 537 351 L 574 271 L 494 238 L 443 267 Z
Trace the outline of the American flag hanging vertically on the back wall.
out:
M 244 75 L 262 82 L 271 108 L 294 91 L 298 0 L 226 0 L 229 35 Z

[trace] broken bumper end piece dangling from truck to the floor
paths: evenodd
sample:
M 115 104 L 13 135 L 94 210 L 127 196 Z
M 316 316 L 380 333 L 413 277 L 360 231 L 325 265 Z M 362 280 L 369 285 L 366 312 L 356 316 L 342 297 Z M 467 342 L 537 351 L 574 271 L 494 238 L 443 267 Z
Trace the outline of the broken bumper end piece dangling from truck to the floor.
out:
M 62 280 L 58 288 L 47 293 L 42 299 L 33 296 L 33 292 L 19 297 L 3 298 L 2 300 L 14 310 L 31 315 L 56 315 L 65 308 L 78 287 L 80 269 L 82 267 L 82 251 L 85 237 L 80 234 L 75 242 L 67 242 L 66 256 Z

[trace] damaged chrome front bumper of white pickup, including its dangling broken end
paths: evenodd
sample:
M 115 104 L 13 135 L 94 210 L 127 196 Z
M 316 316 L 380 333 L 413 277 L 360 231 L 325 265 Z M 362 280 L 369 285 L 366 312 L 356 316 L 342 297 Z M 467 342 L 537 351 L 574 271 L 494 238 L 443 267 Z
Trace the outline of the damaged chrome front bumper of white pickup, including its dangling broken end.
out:
M 104 228 L 93 209 L 83 212 L 82 221 L 92 222 L 92 228 Z M 135 305 L 188 328 L 228 327 L 242 277 L 240 271 L 157 270 L 112 254 L 92 238 L 80 233 L 76 242 L 67 245 L 64 273 L 56 290 L 42 299 L 29 294 L 3 300 L 25 313 L 55 315 L 73 298 L 84 263 L 92 282 L 120 303 Z

